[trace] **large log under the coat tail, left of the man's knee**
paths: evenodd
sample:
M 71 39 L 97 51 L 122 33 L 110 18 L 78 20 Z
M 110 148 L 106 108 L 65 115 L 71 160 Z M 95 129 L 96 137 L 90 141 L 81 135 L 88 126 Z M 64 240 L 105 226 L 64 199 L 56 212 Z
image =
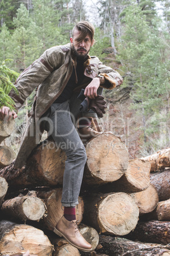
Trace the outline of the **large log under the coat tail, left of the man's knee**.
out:
M 14 168 L 13 164 L 0 171 L 0 176 L 6 178 L 10 189 L 35 186 L 62 186 L 65 169 L 65 153 L 56 150 L 55 144 L 48 141 L 40 143 L 27 160 L 22 169 Z

